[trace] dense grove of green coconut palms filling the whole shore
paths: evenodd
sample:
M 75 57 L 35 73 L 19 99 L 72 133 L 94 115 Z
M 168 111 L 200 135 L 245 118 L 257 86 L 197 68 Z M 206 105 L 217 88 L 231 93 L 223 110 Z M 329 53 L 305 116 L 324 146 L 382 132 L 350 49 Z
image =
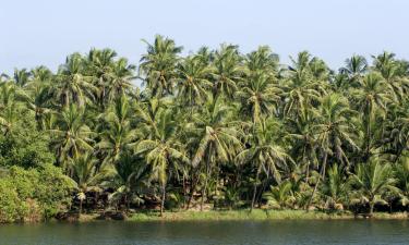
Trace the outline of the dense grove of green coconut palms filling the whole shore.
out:
M 139 209 L 407 209 L 409 63 L 110 49 L 0 82 L 0 221 Z M 142 88 L 134 81 L 142 81 Z M 45 191 L 46 189 L 46 191 Z M 33 218 L 34 216 L 34 218 Z

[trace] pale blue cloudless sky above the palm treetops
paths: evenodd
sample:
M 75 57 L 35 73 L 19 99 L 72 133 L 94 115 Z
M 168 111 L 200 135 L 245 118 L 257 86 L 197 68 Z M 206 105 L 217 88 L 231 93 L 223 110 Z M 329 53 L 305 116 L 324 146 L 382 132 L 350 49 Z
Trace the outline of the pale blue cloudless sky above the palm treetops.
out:
M 184 53 L 268 45 L 282 63 L 308 50 L 338 69 L 353 53 L 409 60 L 408 0 L 0 0 L 0 73 L 112 48 L 136 64 L 156 34 Z

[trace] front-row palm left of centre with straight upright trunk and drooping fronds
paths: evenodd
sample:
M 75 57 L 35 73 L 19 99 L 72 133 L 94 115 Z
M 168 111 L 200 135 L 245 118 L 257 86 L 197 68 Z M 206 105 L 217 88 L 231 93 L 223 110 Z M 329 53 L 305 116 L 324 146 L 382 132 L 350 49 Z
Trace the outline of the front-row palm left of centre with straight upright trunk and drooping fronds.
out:
M 153 138 L 146 138 L 136 145 L 136 154 L 143 155 L 151 166 L 152 177 L 157 180 L 161 187 L 160 216 L 164 213 L 166 184 L 168 182 L 169 168 L 178 172 L 181 162 L 189 162 L 183 148 L 176 137 L 177 124 L 172 119 L 171 110 L 160 110 L 154 126 L 156 134 Z

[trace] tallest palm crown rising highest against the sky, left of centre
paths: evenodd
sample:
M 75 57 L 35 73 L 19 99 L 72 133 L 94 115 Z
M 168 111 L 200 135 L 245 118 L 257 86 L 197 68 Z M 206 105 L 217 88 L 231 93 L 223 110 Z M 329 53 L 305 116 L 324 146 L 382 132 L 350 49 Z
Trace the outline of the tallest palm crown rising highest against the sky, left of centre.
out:
M 182 47 L 176 46 L 173 40 L 160 35 L 155 36 L 154 44 L 143 41 L 147 45 L 147 53 L 142 56 L 140 65 L 144 84 L 154 96 L 172 94 L 175 69 Z

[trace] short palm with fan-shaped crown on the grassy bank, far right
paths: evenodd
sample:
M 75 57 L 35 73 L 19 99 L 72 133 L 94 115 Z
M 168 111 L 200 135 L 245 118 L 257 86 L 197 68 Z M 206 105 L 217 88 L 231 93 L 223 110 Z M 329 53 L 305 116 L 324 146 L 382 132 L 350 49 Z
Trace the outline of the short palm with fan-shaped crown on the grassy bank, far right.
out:
M 373 216 L 376 203 L 383 201 L 382 196 L 387 192 L 399 192 L 396 187 L 393 168 L 383 163 L 378 158 L 371 158 L 369 163 L 357 167 L 357 173 L 350 179 L 356 193 L 365 199 L 370 206 L 369 215 Z

